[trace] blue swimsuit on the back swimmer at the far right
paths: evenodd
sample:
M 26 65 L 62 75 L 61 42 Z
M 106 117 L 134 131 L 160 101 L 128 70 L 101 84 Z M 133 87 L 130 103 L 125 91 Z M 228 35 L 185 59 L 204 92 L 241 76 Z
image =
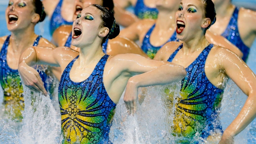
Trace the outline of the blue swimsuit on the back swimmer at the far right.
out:
M 222 34 L 222 36 L 224 38 L 226 38 L 227 40 L 229 40 L 232 44 L 237 46 L 244 54 L 242 59 L 244 61 L 247 61 L 250 48 L 244 44 L 244 42 L 242 41 L 242 39 L 239 35 L 238 24 L 237 24 L 238 13 L 239 13 L 239 9 L 237 7 L 235 7 L 232 17 L 230 18 L 230 22 L 229 22 L 226 30 Z

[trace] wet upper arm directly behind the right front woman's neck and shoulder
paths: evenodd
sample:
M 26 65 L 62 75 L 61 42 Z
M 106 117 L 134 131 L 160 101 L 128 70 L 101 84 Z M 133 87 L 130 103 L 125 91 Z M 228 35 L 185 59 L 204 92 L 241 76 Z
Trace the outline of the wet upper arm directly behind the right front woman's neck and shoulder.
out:
M 243 57 L 243 53 L 239 50 L 239 48 L 233 45 L 230 41 L 228 41 L 223 36 L 214 35 L 210 31 L 206 31 L 205 37 L 210 43 L 213 43 L 214 45 L 218 45 L 220 47 L 225 47 L 231 50 L 232 52 L 235 52 L 235 54 L 237 54 L 239 57 Z

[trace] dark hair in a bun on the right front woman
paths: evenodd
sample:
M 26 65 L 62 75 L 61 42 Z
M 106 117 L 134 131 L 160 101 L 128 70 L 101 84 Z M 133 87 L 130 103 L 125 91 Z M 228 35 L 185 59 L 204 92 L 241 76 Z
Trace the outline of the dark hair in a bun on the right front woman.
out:
M 211 0 L 202 0 L 204 3 L 205 17 L 211 19 L 211 24 L 207 27 L 209 29 L 211 25 L 216 22 L 215 6 Z

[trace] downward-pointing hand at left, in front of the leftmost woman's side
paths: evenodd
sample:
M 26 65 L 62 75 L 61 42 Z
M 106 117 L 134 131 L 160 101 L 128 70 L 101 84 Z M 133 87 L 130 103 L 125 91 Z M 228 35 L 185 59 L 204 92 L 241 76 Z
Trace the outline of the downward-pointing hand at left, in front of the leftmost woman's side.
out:
M 39 73 L 34 68 L 26 64 L 20 64 L 18 70 L 25 86 L 36 92 L 42 92 L 47 96 L 47 91 L 45 90 L 43 81 L 40 78 Z

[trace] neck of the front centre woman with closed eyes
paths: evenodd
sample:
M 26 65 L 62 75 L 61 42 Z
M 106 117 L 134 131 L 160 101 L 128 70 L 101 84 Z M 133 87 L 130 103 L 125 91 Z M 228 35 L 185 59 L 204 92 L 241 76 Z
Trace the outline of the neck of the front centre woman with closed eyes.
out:
M 79 65 L 84 67 L 95 61 L 99 61 L 101 57 L 104 56 L 102 51 L 102 46 L 100 43 L 93 43 L 92 45 L 85 46 L 80 48 L 79 52 Z

